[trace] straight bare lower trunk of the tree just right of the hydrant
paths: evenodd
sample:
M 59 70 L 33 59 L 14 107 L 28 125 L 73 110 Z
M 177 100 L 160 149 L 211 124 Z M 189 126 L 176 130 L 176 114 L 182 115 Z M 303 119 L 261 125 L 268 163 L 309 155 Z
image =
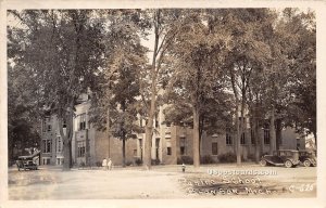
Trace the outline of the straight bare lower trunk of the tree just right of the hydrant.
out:
M 198 106 L 192 107 L 193 113 L 193 167 L 199 168 L 200 166 L 200 135 L 199 135 L 199 109 Z

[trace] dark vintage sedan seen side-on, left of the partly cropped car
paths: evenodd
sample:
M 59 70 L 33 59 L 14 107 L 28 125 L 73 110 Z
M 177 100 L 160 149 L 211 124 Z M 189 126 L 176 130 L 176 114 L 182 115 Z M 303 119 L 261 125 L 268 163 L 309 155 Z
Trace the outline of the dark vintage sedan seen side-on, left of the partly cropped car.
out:
M 299 164 L 299 152 L 292 150 L 275 151 L 273 155 L 264 155 L 261 159 L 262 166 L 273 165 L 291 168 L 298 166 Z

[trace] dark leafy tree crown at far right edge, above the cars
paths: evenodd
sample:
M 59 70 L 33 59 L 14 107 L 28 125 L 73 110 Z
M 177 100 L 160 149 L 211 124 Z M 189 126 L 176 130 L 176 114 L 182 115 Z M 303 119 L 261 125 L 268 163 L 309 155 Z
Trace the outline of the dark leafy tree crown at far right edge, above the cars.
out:
M 316 134 L 316 24 L 312 11 L 285 9 L 278 30 L 288 34 L 289 99 L 287 121 L 301 133 Z

